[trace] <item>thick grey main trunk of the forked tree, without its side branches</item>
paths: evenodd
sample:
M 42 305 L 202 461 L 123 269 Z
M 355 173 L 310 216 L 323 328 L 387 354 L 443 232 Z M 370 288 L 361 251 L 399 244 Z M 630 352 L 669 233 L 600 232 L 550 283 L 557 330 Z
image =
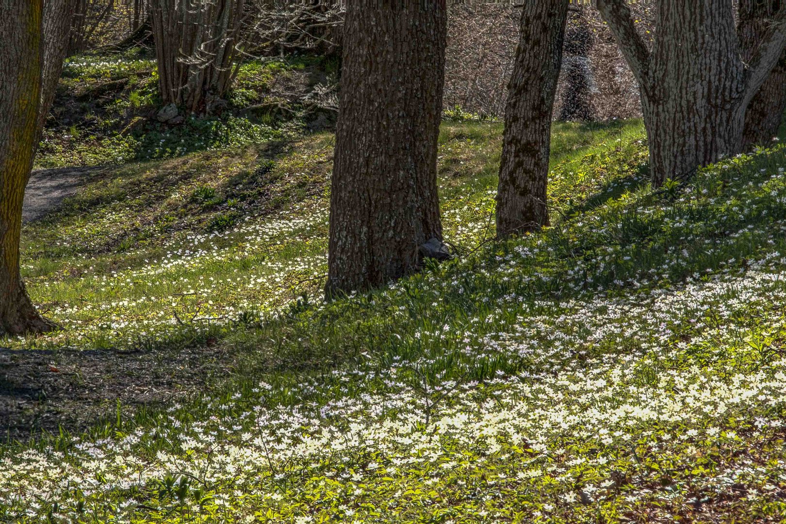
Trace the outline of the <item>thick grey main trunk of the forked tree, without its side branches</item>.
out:
M 731 2 L 663 0 L 642 97 L 652 184 L 742 149 L 745 90 Z

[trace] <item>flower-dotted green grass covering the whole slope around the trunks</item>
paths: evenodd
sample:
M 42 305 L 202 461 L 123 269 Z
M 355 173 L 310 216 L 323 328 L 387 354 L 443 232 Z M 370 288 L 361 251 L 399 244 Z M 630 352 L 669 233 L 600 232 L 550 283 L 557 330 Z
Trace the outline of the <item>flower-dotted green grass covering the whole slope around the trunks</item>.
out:
M 67 328 L 8 343 L 155 350 L 188 316 L 241 361 L 166 409 L 6 446 L 6 516 L 780 522 L 786 148 L 652 192 L 641 123 L 553 143 L 553 225 L 496 243 L 501 125 L 445 123 L 459 256 L 331 303 L 329 135 L 98 175 L 24 231 L 31 293 Z

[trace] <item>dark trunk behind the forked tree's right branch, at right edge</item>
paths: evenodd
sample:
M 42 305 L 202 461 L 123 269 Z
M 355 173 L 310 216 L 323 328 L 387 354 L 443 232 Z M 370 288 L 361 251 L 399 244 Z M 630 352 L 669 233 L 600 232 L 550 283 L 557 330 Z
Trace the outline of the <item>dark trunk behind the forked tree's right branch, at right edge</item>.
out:
M 737 32 L 744 60 L 755 53 L 766 34 L 773 16 L 781 8 L 780 0 L 740 0 Z M 753 145 L 766 145 L 777 137 L 780 121 L 786 111 L 786 51 L 780 54 L 775 68 L 747 106 L 744 149 Z

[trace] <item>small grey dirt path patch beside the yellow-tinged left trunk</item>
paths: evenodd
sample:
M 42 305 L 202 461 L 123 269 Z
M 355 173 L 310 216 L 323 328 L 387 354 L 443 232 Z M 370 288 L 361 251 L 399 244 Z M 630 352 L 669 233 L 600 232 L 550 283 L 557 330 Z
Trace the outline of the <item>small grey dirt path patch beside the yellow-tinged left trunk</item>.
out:
M 100 168 L 64 167 L 33 171 L 24 192 L 22 220 L 38 220 L 57 209 L 66 197 L 72 196 L 79 189 L 88 174 L 98 169 Z

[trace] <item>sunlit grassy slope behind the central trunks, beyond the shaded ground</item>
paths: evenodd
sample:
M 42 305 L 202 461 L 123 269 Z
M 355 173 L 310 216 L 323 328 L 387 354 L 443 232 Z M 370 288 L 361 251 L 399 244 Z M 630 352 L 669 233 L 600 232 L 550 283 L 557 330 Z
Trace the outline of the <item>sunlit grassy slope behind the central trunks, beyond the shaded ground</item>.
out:
M 457 254 L 493 237 L 500 134 L 500 123 L 447 123 L 440 134 L 443 222 Z M 571 178 L 583 191 L 626 184 L 643 160 L 637 123 L 560 124 L 563 134 L 577 140 L 555 140 L 556 206 Z M 318 301 L 332 145 L 313 134 L 92 172 L 57 213 L 25 226 L 28 288 L 64 329 L 17 344 L 147 348 L 184 328 L 231 331 L 241 315 Z M 619 154 L 586 167 L 606 148 Z

